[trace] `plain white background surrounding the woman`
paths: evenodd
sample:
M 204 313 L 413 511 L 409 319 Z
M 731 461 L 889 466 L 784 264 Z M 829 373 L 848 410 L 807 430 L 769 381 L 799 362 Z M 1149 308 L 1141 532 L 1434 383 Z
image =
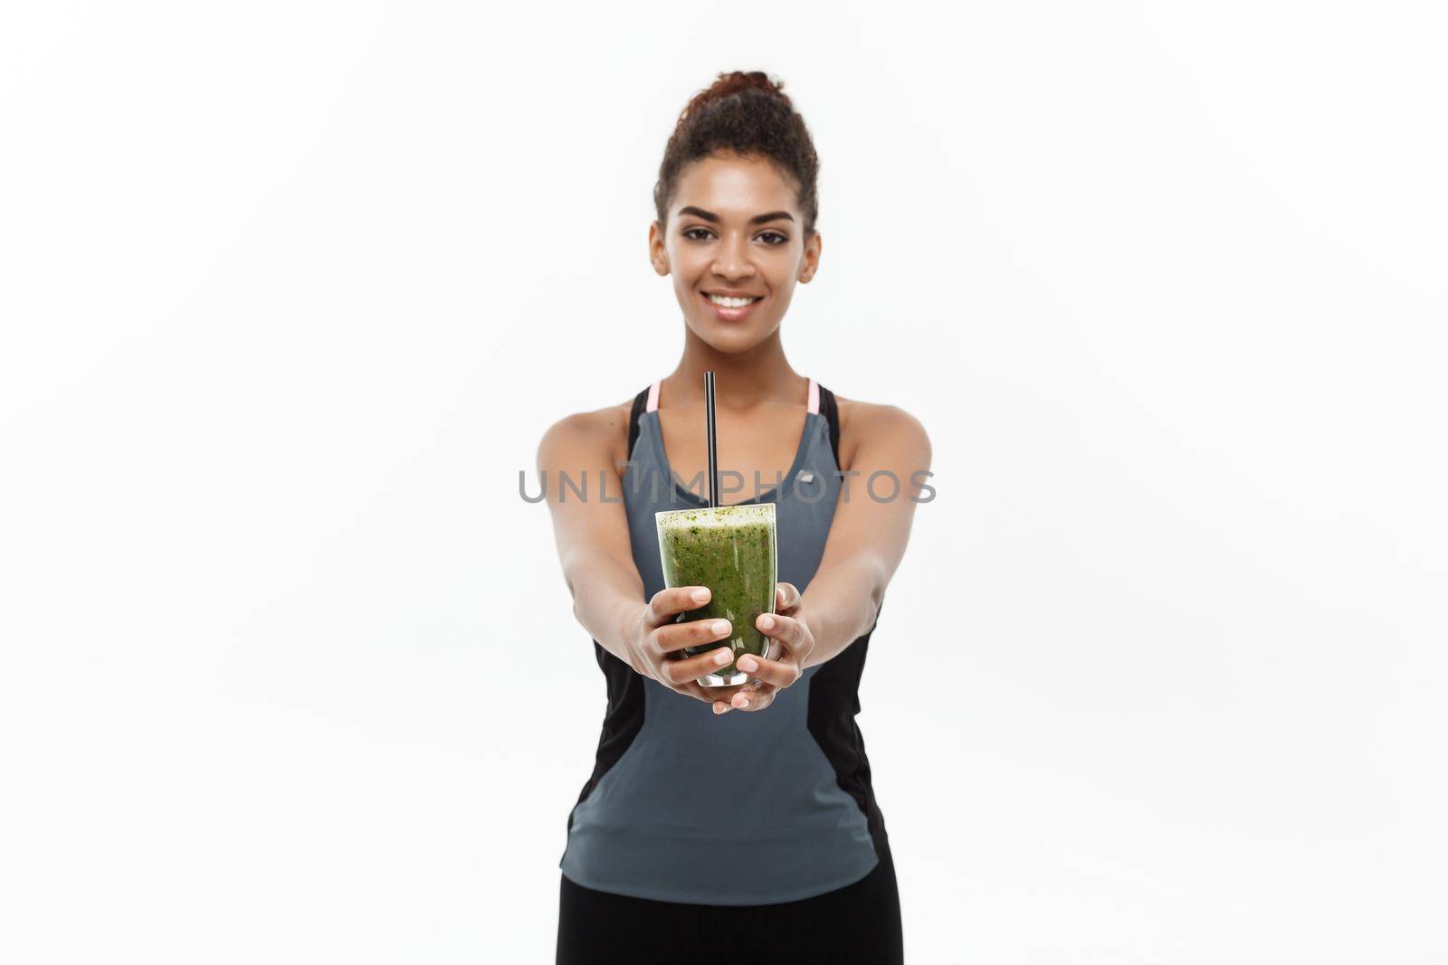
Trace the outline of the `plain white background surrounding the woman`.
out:
M 518 470 L 676 363 L 657 163 L 762 68 L 789 360 L 934 444 L 909 961 L 1448 961 L 1435 6 L 7 4 L 0 958 L 552 961 L 604 681 Z

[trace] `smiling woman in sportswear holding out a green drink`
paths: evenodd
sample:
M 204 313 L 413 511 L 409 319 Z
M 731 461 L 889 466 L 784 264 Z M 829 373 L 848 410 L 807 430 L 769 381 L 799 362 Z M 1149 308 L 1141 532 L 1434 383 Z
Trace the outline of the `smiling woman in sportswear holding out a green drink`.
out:
M 665 150 L 649 230 L 683 310 L 683 356 L 539 446 L 544 479 L 604 473 L 594 499 L 547 501 L 608 684 L 560 861 L 560 964 L 902 961 L 854 715 L 930 440 L 902 409 L 835 396 L 785 359 L 795 282 L 820 266 L 817 169 L 804 120 L 765 74 L 721 74 L 696 95 Z M 705 472 L 705 370 L 721 476 L 754 480 L 752 499 L 721 486 L 720 503 L 776 503 L 776 615 L 757 622 L 770 650 L 741 657 L 750 681 L 730 687 L 695 683 L 720 651 L 683 648 L 733 628 L 675 622 L 708 587 L 663 589 L 654 531 L 654 512 L 707 505 L 685 482 Z

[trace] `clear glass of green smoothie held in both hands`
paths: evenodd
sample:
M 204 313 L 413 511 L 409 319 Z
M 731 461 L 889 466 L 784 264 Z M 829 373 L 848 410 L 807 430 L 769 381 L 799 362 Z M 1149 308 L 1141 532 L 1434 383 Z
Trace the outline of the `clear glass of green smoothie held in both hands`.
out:
M 775 543 L 775 503 L 740 503 L 699 509 L 669 509 L 653 514 L 659 530 L 659 557 L 663 584 L 707 586 L 710 602 L 678 616 L 678 622 L 727 619 L 733 625 L 728 639 L 702 647 L 685 647 L 689 657 L 728 647 L 737 660 L 743 654 L 765 657 L 769 638 L 754 621 L 775 612 L 778 551 Z M 731 661 L 699 677 L 701 687 L 728 687 L 749 683 L 749 674 Z

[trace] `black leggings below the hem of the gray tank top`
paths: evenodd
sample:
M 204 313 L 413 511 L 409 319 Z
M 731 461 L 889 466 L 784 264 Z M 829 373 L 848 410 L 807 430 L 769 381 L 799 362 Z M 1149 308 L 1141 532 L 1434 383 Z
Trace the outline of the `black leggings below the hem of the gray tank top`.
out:
M 905 961 L 901 898 L 888 845 L 875 871 L 854 884 L 779 904 L 653 901 L 560 878 L 557 965 L 902 965 Z

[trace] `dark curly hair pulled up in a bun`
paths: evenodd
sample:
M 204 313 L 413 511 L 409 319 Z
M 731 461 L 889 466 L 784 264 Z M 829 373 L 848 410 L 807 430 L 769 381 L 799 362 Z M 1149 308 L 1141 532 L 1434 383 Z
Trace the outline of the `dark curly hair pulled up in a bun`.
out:
M 783 81 L 776 84 L 762 71 L 733 71 L 720 74 L 712 87 L 694 95 L 669 136 L 653 187 L 660 227 L 669 224 L 681 172 L 695 161 L 724 152 L 765 158 L 794 178 L 805 218 L 804 237 L 814 236 L 820 216 L 820 158 L 783 87 Z

